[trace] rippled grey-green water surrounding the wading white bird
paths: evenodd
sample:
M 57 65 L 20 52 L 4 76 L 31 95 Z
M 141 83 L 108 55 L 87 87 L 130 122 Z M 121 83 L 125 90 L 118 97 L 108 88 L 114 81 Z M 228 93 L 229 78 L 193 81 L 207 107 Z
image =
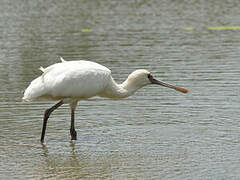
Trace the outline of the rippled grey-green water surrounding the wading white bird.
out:
M 1 179 L 239 179 L 239 3 L 1 1 Z M 190 29 L 187 27 L 191 27 Z M 117 82 L 137 68 L 190 90 L 149 86 L 125 100 L 67 105 L 21 101 L 46 67 L 87 59 Z

